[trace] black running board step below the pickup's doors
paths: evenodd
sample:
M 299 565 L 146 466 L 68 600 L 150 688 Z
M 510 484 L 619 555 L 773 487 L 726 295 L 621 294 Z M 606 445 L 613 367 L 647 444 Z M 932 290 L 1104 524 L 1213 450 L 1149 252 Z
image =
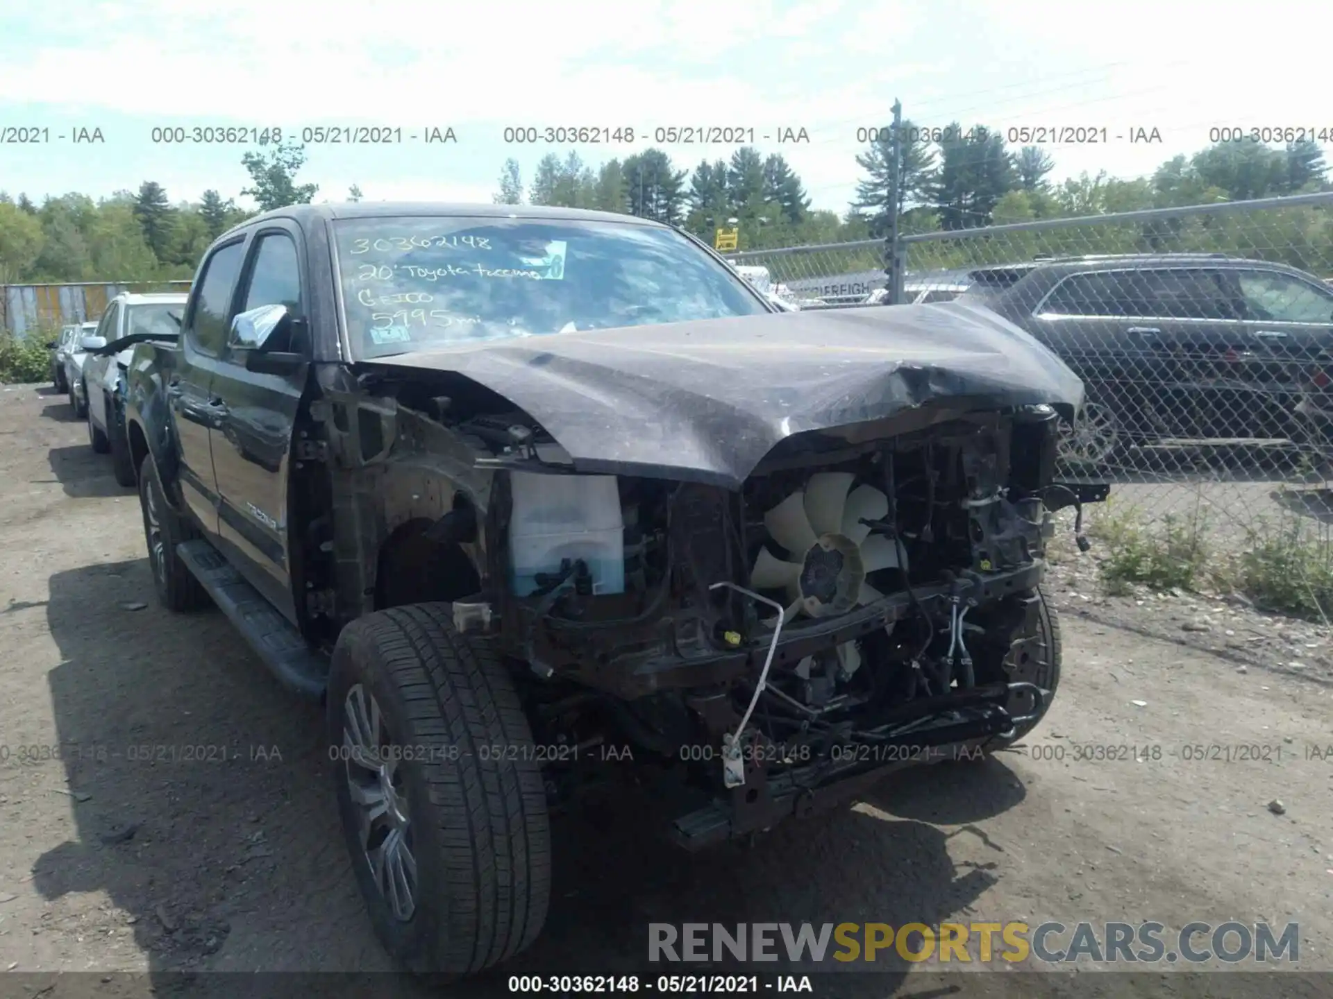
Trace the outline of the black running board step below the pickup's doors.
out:
M 176 551 L 284 687 L 313 701 L 324 697 L 328 659 L 311 651 L 292 622 L 245 582 L 217 549 L 197 538 L 179 543 Z

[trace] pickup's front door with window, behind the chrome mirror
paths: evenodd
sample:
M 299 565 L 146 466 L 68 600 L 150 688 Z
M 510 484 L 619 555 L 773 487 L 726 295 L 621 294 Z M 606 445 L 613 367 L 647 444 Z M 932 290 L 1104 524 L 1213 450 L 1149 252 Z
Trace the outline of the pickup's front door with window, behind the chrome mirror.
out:
M 283 305 L 288 316 L 305 318 L 308 293 L 300 245 L 301 234 L 295 225 L 279 221 L 256 230 L 241 272 L 237 314 Z M 291 336 L 291 328 L 285 336 Z M 284 348 L 311 356 L 308 342 Z M 221 496 L 219 535 L 251 585 L 296 623 L 287 481 L 309 364 L 284 374 L 265 374 L 247 370 L 248 354 L 243 340 L 229 337 L 213 378 L 212 392 L 220 404 L 219 422 L 212 430 L 213 468 Z

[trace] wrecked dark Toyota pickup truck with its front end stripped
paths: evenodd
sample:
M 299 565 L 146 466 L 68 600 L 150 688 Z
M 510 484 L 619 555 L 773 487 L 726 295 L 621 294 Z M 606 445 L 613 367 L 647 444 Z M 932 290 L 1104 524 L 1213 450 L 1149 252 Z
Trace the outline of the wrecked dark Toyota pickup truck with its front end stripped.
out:
M 981 309 L 780 313 L 647 220 L 359 204 L 221 236 L 127 418 L 161 602 L 324 699 L 381 940 L 465 975 L 537 936 L 592 771 L 672 781 L 696 850 L 1029 731 L 1050 511 L 1105 496 L 1054 470 L 1081 398 Z

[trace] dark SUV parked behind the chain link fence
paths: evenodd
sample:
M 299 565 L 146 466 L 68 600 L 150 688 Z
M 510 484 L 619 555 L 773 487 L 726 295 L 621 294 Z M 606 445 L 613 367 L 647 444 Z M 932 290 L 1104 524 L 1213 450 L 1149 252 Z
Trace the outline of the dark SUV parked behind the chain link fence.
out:
M 1333 416 L 1333 289 L 1225 254 L 1054 258 L 974 300 L 1084 380 L 1064 457 L 1166 440 L 1305 442 Z

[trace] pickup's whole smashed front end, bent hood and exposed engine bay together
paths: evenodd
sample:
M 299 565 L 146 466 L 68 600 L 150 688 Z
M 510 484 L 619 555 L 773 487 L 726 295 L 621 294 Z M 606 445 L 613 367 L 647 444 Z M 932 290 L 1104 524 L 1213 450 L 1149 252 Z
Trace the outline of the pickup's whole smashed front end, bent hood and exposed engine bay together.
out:
M 624 747 L 698 795 L 673 827 L 696 848 L 1045 713 L 1050 513 L 1077 507 L 1085 549 L 1080 502 L 1105 497 L 1056 477 L 1082 386 L 984 310 L 850 312 L 409 353 L 329 386 L 335 452 L 380 470 L 335 509 L 364 551 L 435 507 L 399 590 L 512 665 L 563 747 L 552 803 Z M 340 593 L 383 590 L 333 554 Z

